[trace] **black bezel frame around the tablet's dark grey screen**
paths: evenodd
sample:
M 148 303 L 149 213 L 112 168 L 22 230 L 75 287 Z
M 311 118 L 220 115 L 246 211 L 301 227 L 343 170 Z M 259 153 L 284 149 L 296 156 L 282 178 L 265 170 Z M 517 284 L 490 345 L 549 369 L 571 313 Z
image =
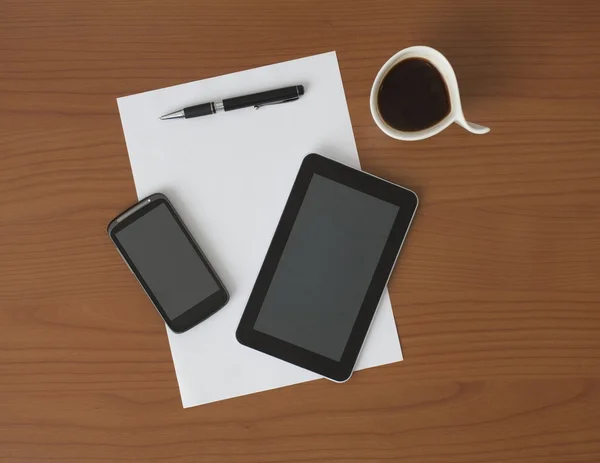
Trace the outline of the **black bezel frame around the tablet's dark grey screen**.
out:
M 308 186 L 315 174 L 398 206 L 398 214 L 340 361 L 332 360 L 254 329 L 281 254 L 287 244 Z M 352 375 L 352 370 L 408 232 L 417 204 L 417 195 L 411 190 L 318 154 L 306 156 L 242 314 L 236 331 L 238 341 L 245 346 L 314 371 L 334 381 L 347 380 Z

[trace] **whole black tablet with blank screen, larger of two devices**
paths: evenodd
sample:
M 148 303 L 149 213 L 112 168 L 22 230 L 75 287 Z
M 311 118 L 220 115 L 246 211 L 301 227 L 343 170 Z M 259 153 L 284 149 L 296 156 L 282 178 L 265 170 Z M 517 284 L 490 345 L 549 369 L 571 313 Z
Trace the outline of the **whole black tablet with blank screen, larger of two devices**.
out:
M 306 156 L 238 341 L 334 381 L 347 380 L 417 203 L 406 188 L 318 154 Z

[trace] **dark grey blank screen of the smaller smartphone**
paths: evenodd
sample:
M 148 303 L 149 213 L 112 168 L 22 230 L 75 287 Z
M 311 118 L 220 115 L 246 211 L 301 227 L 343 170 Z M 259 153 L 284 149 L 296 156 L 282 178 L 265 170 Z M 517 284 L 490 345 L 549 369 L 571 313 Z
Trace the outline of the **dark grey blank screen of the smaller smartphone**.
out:
M 221 289 L 164 202 L 118 229 L 114 239 L 171 320 Z

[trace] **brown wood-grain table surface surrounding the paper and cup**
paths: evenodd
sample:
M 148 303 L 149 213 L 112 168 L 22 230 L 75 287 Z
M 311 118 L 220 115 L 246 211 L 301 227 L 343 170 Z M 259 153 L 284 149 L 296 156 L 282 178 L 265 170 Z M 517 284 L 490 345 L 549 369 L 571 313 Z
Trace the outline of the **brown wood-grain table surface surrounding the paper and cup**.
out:
M 409 45 L 474 136 L 387 138 Z M 363 167 L 416 190 L 406 360 L 194 409 L 106 236 L 136 200 L 115 98 L 337 50 Z M 0 461 L 600 461 L 600 3 L 0 0 Z

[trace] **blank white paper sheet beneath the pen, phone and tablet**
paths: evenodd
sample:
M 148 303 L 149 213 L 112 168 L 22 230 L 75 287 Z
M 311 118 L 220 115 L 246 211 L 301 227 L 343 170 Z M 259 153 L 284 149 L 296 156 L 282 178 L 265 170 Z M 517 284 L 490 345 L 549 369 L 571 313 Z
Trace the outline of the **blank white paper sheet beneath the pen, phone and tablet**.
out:
M 306 92 L 293 103 L 158 120 L 200 102 L 298 84 Z M 304 156 L 360 166 L 335 52 L 117 101 L 138 197 L 169 197 L 231 294 L 190 331 L 167 329 L 183 406 L 318 378 L 238 344 L 235 330 Z M 399 360 L 386 291 L 357 368 Z

